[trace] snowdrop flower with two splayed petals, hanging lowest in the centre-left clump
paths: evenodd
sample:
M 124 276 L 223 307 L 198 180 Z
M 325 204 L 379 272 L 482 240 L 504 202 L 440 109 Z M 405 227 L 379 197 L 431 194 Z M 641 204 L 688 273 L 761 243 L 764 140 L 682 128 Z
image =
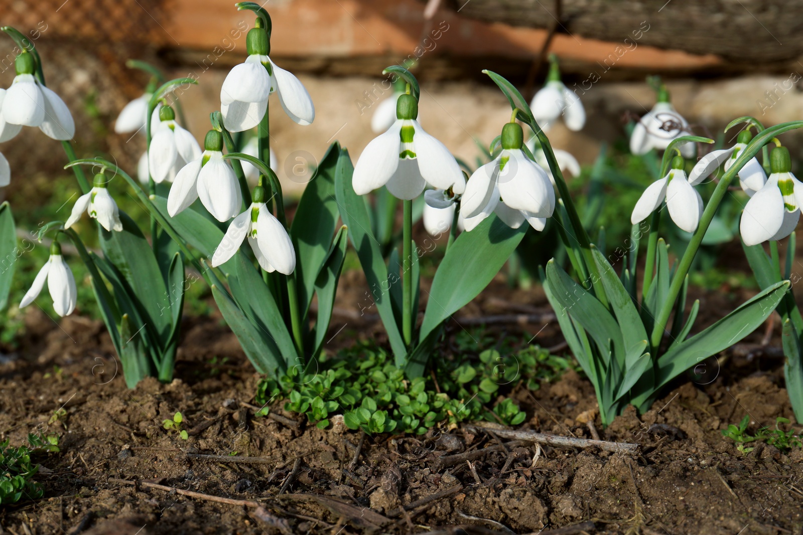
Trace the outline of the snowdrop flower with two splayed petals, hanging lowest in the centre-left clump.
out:
M 296 269 L 293 242 L 287 235 L 287 230 L 267 209 L 265 198 L 265 188 L 262 185 L 254 188 L 254 202 L 245 212 L 234 217 L 226 230 L 226 236 L 218 248 L 214 249 L 212 267 L 233 257 L 243 244 L 243 239 L 248 237 L 248 243 L 263 270 L 289 275 Z

